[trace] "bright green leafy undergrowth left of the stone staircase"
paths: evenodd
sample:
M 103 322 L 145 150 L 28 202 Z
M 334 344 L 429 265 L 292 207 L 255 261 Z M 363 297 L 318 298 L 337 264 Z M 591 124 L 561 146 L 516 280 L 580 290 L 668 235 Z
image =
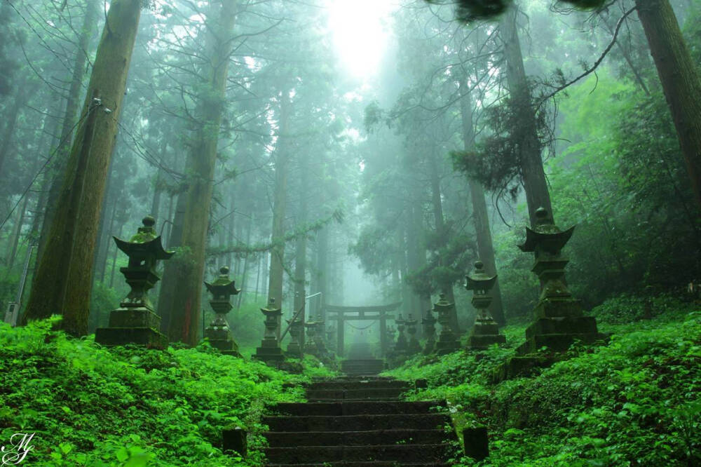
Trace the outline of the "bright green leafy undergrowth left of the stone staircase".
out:
M 259 466 L 266 407 L 332 376 L 311 358 L 290 374 L 207 344 L 108 350 L 53 331 L 56 320 L 0 323 L 0 445 L 35 433 L 31 466 Z M 222 453 L 234 426 L 249 432 L 245 460 Z

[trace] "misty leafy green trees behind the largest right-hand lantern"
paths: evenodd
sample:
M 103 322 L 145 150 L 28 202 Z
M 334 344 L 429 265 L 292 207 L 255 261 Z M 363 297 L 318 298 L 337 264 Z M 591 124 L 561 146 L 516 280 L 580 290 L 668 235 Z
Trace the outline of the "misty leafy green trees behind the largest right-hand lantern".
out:
M 571 144 L 549 168 L 555 219 L 577 225 L 566 248 L 572 292 L 594 305 L 694 280 L 701 264 L 689 252 L 701 224 L 662 93 L 646 96 L 601 70 L 561 110 Z

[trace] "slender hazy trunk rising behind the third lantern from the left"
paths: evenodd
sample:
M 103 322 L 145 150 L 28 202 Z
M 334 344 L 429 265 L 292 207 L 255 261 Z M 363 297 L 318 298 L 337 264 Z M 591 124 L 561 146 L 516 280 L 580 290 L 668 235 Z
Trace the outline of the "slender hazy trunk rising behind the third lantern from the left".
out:
M 268 280 L 268 299 L 275 299 L 275 305 L 283 306 L 283 261 L 285 259 L 285 201 L 287 198 L 287 137 L 289 126 L 290 95 L 287 89 L 283 89 L 280 98 L 280 135 L 278 136 L 278 148 L 275 150 L 275 195 L 273 201 L 273 248 L 270 252 L 270 278 Z M 278 341 L 280 339 L 280 326 L 278 325 Z

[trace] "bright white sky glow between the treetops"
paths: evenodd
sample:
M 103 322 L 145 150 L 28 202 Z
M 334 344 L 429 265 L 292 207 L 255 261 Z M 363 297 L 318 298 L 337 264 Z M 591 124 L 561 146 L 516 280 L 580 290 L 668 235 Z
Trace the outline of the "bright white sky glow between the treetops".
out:
M 339 62 L 356 78 L 376 74 L 389 40 L 396 0 L 327 0 Z

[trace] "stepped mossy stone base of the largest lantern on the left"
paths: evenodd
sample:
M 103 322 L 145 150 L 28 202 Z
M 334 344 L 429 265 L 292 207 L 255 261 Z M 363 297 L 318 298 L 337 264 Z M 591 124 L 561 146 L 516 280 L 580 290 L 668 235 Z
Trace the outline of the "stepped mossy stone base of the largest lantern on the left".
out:
M 95 330 L 95 342 L 103 346 L 136 344 L 149 348 L 168 347 L 168 337 L 161 334 L 161 317 L 146 307 L 122 306 L 109 313 L 109 327 Z

